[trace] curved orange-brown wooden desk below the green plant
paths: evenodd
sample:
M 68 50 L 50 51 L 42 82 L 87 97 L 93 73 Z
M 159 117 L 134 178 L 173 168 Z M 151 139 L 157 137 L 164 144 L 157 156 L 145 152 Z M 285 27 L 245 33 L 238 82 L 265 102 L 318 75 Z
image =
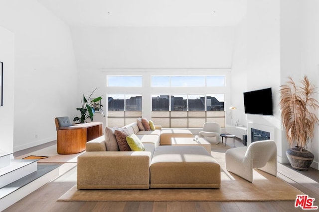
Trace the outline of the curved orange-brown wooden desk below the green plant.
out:
M 90 122 L 57 128 L 57 152 L 75 154 L 84 151 L 86 142 L 102 136 L 102 123 Z

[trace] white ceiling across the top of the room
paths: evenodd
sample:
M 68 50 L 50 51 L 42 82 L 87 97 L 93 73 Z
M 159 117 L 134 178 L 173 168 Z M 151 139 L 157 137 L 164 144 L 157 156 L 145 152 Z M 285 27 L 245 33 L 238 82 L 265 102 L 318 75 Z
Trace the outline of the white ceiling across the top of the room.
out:
M 231 26 L 247 0 L 38 0 L 70 26 Z

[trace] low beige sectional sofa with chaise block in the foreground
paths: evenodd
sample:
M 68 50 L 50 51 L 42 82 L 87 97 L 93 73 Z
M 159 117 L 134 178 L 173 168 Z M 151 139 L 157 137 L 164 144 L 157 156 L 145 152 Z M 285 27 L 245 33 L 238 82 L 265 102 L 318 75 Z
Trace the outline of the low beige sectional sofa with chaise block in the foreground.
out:
M 78 189 L 220 187 L 220 166 L 204 147 L 160 145 L 160 126 L 140 131 L 132 123 L 121 129 L 136 134 L 145 151 L 118 151 L 114 129 L 105 128 L 78 157 Z

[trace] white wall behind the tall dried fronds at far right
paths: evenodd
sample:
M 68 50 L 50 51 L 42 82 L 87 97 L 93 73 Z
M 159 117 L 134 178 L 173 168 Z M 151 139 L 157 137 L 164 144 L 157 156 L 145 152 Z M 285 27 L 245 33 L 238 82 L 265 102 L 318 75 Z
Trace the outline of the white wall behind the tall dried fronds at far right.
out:
M 315 87 L 319 86 L 319 2 L 316 0 L 281 0 L 281 83 L 292 76 L 299 80 L 307 75 Z M 318 90 L 317 90 L 318 92 Z M 317 94 L 316 99 L 319 99 Z M 287 144 L 282 133 L 283 144 Z M 312 167 L 319 169 L 319 130 L 315 127 L 315 138 L 308 145 L 314 153 Z

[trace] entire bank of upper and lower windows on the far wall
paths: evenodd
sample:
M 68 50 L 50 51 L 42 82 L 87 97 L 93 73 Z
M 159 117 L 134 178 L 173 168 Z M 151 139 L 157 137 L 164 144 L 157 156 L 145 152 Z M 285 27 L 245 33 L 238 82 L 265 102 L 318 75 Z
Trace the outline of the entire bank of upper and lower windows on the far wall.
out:
M 125 126 L 143 116 L 151 116 L 164 128 L 199 128 L 205 122 L 225 126 L 224 94 L 230 96 L 230 70 L 106 72 L 109 127 Z

